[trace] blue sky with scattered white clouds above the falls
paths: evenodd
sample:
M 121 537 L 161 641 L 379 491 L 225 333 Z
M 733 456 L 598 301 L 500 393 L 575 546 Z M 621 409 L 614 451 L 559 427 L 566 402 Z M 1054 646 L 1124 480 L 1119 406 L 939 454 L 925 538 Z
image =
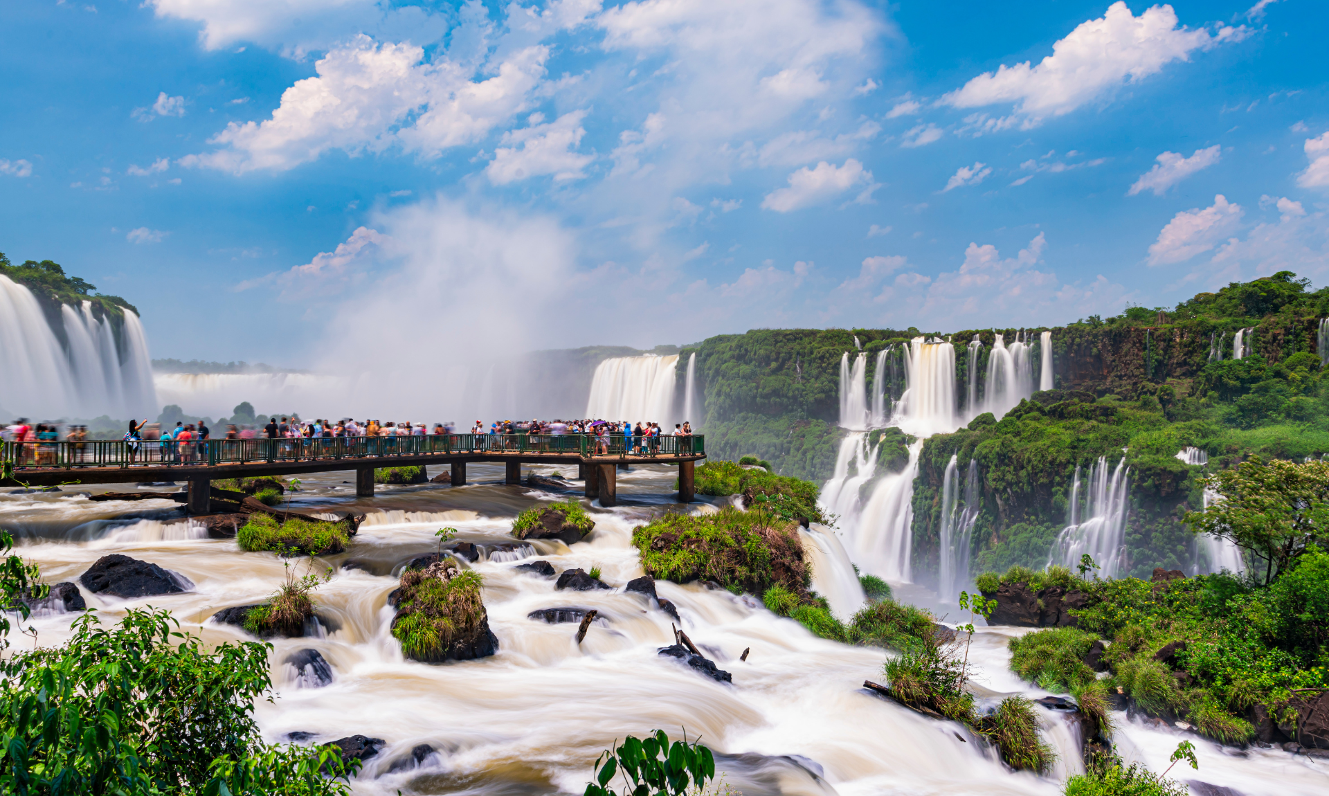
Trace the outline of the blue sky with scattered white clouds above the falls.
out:
M 326 368 L 1321 286 L 1326 21 L 13 0 L 0 251 L 136 303 L 154 356 Z

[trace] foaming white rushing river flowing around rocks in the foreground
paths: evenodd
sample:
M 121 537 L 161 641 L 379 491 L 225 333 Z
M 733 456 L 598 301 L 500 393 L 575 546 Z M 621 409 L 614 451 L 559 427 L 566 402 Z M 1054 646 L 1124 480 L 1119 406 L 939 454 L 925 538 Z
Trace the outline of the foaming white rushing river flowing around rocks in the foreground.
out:
M 1003 795 L 1061 792 L 1070 773 L 1082 771 L 1079 740 L 1065 719 L 1043 708 L 1047 740 L 1059 753 L 1046 777 L 1013 773 L 958 724 L 925 719 L 861 688 L 882 680 L 885 652 L 851 647 L 811 635 L 750 597 L 702 585 L 658 582 L 661 597 L 678 607 L 683 629 L 716 664 L 734 675 L 720 684 L 672 658 L 657 655 L 672 643 L 670 618 L 622 586 L 642 574 L 630 545 L 631 529 L 666 509 L 682 510 L 670 496 L 674 468 L 641 466 L 618 474 L 619 505 L 590 506 L 595 532 L 565 546 L 536 541 L 518 550 L 494 550 L 472 566 L 485 579 L 484 602 L 498 638 L 492 658 L 429 666 L 403 658 L 388 629 L 388 593 L 408 559 L 436 547 L 435 530 L 452 526 L 460 541 L 490 549 L 512 542 L 512 520 L 522 509 L 561 498 L 526 486 L 502 484 L 502 468 L 470 465 L 473 484 L 379 486 L 373 498 L 355 498 L 350 473 L 311 476 L 294 505 L 354 508 L 365 522 L 347 553 L 315 561 L 331 567 L 331 582 L 315 593 L 323 638 L 276 639 L 272 680 L 276 698 L 259 703 L 258 722 L 272 742 L 291 732 L 328 742 L 348 735 L 387 740 L 355 781 L 364 793 L 526 795 L 554 789 L 579 793 L 595 756 L 613 740 L 655 728 L 671 736 L 684 730 L 719 752 L 726 783 L 747 796 L 797 795 Z M 541 474 L 574 477 L 573 468 L 536 466 Z M 574 485 L 579 486 L 579 481 Z M 210 540 L 193 529 L 177 504 L 90 502 L 66 488 L 60 494 L 0 494 L 0 521 L 19 540 L 20 553 L 41 566 L 48 582 L 77 582 L 90 563 L 122 553 L 174 570 L 194 589 L 186 594 L 134 601 L 101 598 L 84 590 L 104 622 L 126 607 L 170 609 L 185 629 L 210 642 L 247 638 L 238 629 L 207 619 L 219 609 L 263 601 L 280 583 L 283 563 L 270 553 L 245 553 L 234 541 Z M 90 492 L 124 489 L 122 485 Z M 170 492 L 163 488 L 162 492 Z M 686 510 L 708 512 L 708 504 Z M 813 532 L 817 533 L 816 530 Z M 839 614 L 861 591 L 843 558 L 840 542 L 815 537 L 817 582 Z M 562 570 L 599 566 L 615 591 L 557 591 L 553 578 L 514 570 L 520 558 L 538 555 Z M 358 567 L 343 569 L 348 561 Z M 303 563 L 302 573 L 303 573 Z M 902 597 L 910 594 L 900 590 Z M 857 595 L 857 597 L 856 597 Z M 599 619 L 582 645 L 577 625 L 546 625 L 530 611 L 574 606 L 597 609 Z M 39 645 L 69 635 L 68 614 L 35 617 Z M 979 674 L 982 703 L 1003 695 L 1046 692 L 1019 682 L 1006 668 L 1006 642 L 1021 631 L 981 629 L 971 660 Z M 29 643 L 15 634 L 12 642 Z M 300 687 L 283 659 L 316 648 L 331 663 L 334 682 Z M 744 648 L 751 652 L 739 660 Z M 1179 779 L 1212 783 L 1231 792 L 1324 795 L 1329 765 L 1280 749 L 1247 751 L 1148 728 L 1116 714 L 1118 749 L 1162 771 L 1183 738 L 1195 740 L 1197 772 L 1174 769 Z M 389 771 L 411 757 L 417 744 L 439 753 L 419 767 Z

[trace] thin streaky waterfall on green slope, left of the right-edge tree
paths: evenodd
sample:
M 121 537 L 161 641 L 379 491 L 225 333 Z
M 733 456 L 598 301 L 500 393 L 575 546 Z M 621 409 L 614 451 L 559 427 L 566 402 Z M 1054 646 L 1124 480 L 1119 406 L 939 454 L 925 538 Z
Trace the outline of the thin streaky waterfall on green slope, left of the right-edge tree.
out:
M 1088 470 L 1088 496 L 1084 513 L 1088 520 L 1067 525 L 1053 544 L 1047 565 L 1059 563 L 1074 569 L 1080 555 L 1088 553 L 1099 565 L 1104 578 L 1116 577 L 1126 554 L 1127 492 L 1131 469 L 1126 457 L 1108 474 L 1107 457 L 1100 456 Z M 1079 468 L 1075 468 L 1075 486 L 1071 489 L 1071 505 L 1079 512 Z M 1074 517 L 1073 518 L 1078 518 Z

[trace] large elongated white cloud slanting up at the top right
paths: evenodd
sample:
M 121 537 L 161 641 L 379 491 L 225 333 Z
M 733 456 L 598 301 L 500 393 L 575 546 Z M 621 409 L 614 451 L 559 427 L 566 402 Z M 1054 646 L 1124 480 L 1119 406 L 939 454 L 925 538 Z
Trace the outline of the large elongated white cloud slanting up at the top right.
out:
M 1220 27 L 1213 35 L 1177 24 L 1171 5 L 1155 5 L 1134 16 L 1118 0 L 1103 17 L 1082 23 L 1053 45 L 1037 66 L 1030 61 L 1001 65 L 941 98 L 954 108 L 1014 102 L 1014 117 L 990 122 L 990 129 L 1033 128 L 1046 117 L 1070 113 L 1110 93 L 1123 82 L 1156 74 L 1172 61 L 1225 41 L 1240 41 L 1249 29 Z

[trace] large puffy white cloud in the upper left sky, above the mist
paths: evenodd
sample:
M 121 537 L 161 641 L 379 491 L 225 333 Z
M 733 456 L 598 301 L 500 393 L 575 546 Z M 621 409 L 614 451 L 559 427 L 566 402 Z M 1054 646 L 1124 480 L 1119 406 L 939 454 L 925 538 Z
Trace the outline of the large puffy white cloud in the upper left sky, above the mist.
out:
M 286 89 L 271 118 L 231 122 L 210 141 L 225 149 L 181 162 L 239 174 L 292 169 L 331 149 L 354 155 L 393 145 L 433 158 L 517 114 L 544 76 L 549 50 L 512 52 L 478 82 L 447 57 L 428 64 L 423 57 L 420 47 L 356 36 L 315 64 L 316 77 Z

